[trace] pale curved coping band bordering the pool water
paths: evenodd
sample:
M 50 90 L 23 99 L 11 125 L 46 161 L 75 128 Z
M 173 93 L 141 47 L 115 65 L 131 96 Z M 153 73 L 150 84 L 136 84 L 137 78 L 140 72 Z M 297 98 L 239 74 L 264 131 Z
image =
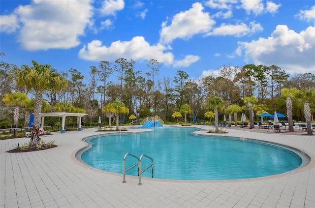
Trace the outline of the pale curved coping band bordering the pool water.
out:
M 172 126 L 172 127 L 179 127 L 179 126 Z M 186 127 L 186 126 L 185 126 Z M 190 126 L 189 126 L 190 127 Z M 192 127 L 192 126 L 191 126 Z M 131 130 L 131 128 L 128 128 L 129 130 Z M 199 128 L 199 131 L 195 131 L 192 132 L 192 134 L 195 134 L 197 136 L 207 136 L 207 130 Z M 102 135 L 108 135 L 108 134 L 130 134 L 130 133 L 145 133 L 145 132 L 150 132 L 150 131 L 155 131 L 154 129 L 137 129 L 134 128 L 132 129 L 132 131 L 127 131 L 127 132 L 104 132 L 102 134 L 95 134 L 95 135 L 91 135 L 88 137 L 84 137 L 82 139 L 80 139 L 80 142 L 84 143 L 84 146 L 81 148 L 76 149 L 75 151 L 73 151 L 71 153 L 71 160 L 73 162 L 75 162 L 76 164 L 78 164 L 81 167 L 93 170 L 93 171 L 97 171 L 100 173 L 104 173 L 104 174 L 109 174 L 112 176 L 118 176 L 118 177 L 122 177 L 123 178 L 123 174 L 118 174 L 118 173 L 113 173 L 113 172 L 109 172 L 109 171 L 104 171 L 104 170 L 100 170 L 97 168 L 94 168 L 88 164 L 86 164 L 82 159 L 81 159 L 81 155 L 84 151 L 86 151 L 87 149 L 90 149 L 92 147 L 92 145 L 89 145 L 88 143 L 85 142 L 85 140 L 91 138 L 91 137 L 95 137 L 95 136 L 102 136 Z M 198 132 L 198 133 L 196 133 Z M 259 133 L 257 133 L 259 134 Z M 208 135 L 209 136 L 209 135 Z M 219 135 L 222 137 L 237 137 L 235 135 Z M 244 137 L 240 137 L 240 138 L 244 138 Z M 296 149 L 297 151 L 305 154 L 305 156 L 307 156 L 310 161 L 307 165 L 305 165 L 305 167 L 299 167 L 297 169 L 291 170 L 289 172 L 286 173 L 282 173 L 282 174 L 277 174 L 277 175 L 272 175 L 272 176 L 265 176 L 265 177 L 258 177 L 258 178 L 245 178 L 245 179 L 226 179 L 226 180 L 175 180 L 175 179 L 162 179 L 162 178 L 146 178 L 146 177 L 142 177 L 142 180 L 154 180 L 154 181 L 162 181 L 162 182 L 176 182 L 176 183 L 227 183 L 227 182 L 248 182 L 248 181 L 256 181 L 256 180 L 265 180 L 265 179 L 273 179 L 273 178 L 281 178 L 281 177 L 287 177 L 289 175 L 294 175 L 296 173 L 302 173 L 305 172 L 307 170 L 310 170 L 312 168 L 315 168 L 315 155 L 312 154 L 311 152 L 308 152 L 304 149 L 300 149 L 298 147 L 292 147 L 290 145 L 287 144 L 282 144 L 282 143 L 275 143 L 275 142 L 270 142 L 270 141 L 266 141 L 263 139 L 253 139 L 253 138 L 245 138 L 245 139 L 249 139 L 252 141 L 256 141 L 256 142 L 266 142 L 269 143 L 271 145 L 279 145 L 282 148 L 287 147 L 288 149 Z M 293 151 L 294 152 L 294 151 Z M 299 154 L 298 154 L 299 155 Z M 300 156 L 300 155 L 299 155 Z M 303 160 L 303 158 L 302 158 Z M 303 161 L 302 161 L 303 163 Z M 133 179 L 137 179 L 139 177 L 137 176 L 131 176 L 131 175 L 126 175 L 126 178 L 133 178 Z

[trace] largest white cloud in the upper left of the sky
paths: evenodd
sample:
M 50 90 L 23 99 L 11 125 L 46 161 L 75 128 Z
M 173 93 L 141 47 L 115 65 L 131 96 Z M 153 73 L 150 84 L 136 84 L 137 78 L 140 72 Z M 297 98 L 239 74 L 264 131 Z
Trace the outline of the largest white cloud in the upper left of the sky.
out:
M 78 36 L 84 35 L 85 28 L 93 25 L 90 2 L 36 0 L 19 6 L 13 12 L 21 23 L 18 42 L 30 51 L 79 45 Z

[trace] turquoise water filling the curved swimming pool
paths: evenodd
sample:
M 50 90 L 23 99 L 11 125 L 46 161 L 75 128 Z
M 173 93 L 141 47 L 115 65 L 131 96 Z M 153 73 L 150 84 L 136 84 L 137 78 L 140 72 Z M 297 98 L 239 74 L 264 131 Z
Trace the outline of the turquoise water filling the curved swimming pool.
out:
M 155 132 L 95 136 L 82 160 L 100 170 L 123 174 L 126 153 L 154 160 L 154 178 L 222 180 L 276 175 L 298 168 L 302 159 L 278 146 L 221 136 L 194 136 L 193 128 L 161 127 Z M 137 160 L 126 158 L 126 169 Z M 143 158 L 142 170 L 151 164 Z M 126 172 L 137 176 L 137 168 Z M 142 174 L 151 177 L 151 168 Z

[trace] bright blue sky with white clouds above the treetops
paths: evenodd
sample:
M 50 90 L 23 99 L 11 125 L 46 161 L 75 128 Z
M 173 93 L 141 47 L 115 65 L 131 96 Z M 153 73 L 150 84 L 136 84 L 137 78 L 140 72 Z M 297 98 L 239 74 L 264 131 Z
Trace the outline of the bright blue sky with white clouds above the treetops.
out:
M 1 0 L 0 15 L 2 61 L 34 59 L 85 79 L 118 58 L 143 76 L 157 59 L 161 80 L 178 70 L 217 76 L 222 65 L 315 73 L 315 0 Z

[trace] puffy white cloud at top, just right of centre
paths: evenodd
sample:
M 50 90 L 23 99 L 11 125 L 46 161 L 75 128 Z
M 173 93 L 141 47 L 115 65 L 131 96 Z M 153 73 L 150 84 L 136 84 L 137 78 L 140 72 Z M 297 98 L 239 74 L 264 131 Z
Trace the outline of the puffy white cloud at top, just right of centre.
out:
M 176 38 L 188 39 L 195 34 L 209 31 L 215 21 L 203 9 L 201 3 L 193 3 L 189 10 L 176 14 L 169 26 L 166 26 L 167 21 L 163 22 L 160 42 L 168 44 Z

